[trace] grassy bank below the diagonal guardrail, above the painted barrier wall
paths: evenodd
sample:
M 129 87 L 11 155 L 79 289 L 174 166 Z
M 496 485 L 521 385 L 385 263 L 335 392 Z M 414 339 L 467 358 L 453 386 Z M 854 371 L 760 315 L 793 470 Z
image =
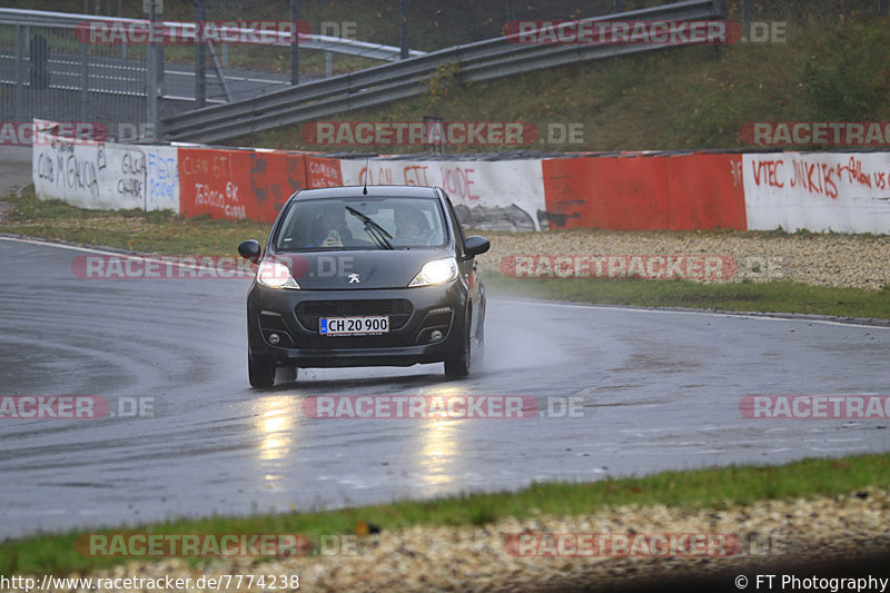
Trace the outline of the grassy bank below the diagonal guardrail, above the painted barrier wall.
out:
M 800 19 L 804 19 L 801 16 Z M 753 121 L 890 119 L 890 27 L 858 18 L 789 24 L 789 42 L 680 47 L 589 61 L 510 78 L 463 83 L 459 73 L 422 86 L 422 95 L 323 118 L 350 121 L 531 121 L 580 123 L 577 144 L 536 144 L 545 151 L 741 149 Z M 230 144 L 305 150 L 417 152 L 417 146 L 312 145 L 301 125 Z M 456 146 L 446 152 L 515 150 Z

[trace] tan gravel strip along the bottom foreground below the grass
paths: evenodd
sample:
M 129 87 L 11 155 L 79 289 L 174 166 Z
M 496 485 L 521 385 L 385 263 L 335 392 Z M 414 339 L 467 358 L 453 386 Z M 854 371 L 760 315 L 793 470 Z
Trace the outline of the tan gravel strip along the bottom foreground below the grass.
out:
M 300 591 L 318 592 L 616 590 L 629 584 L 725 576 L 725 586 L 721 590 L 731 591 L 735 586 L 734 574 L 758 566 L 781 570 L 783 565 L 802 561 L 824 566 L 832 559 L 849 554 L 886 555 L 890 544 L 889 508 L 890 493 L 876 488 L 837 497 L 761 501 L 750 506 L 720 510 L 622 506 L 583 516 L 507 518 L 476 527 L 416 526 L 383 531 L 357 536 L 347 554 L 307 554 L 266 561 L 241 557 L 199 565 L 184 559 L 130 561 L 93 571 L 90 576 L 157 579 L 174 575 L 197 580 L 202 575 L 298 574 Z M 699 536 L 700 543 L 701 536 L 709 536 L 719 545 L 696 547 L 689 538 L 676 540 L 678 545 L 663 555 L 657 551 L 654 556 L 646 555 L 652 554 L 652 548 L 631 544 L 626 550 L 633 551 L 632 554 L 617 547 L 615 553 L 610 553 L 603 545 L 585 548 L 586 555 L 581 557 L 554 556 L 552 552 L 556 548 L 544 538 L 545 534 L 552 534 L 554 543 L 564 543 L 566 534 L 572 537 L 597 534 L 600 542 L 606 541 L 603 538 L 607 535 L 612 542 L 636 543 L 654 542 L 654 534 L 675 537 L 688 534 Z M 812 573 L 800 576 L 812 576 Z M 749 585 L 748 589 L 753 587 Z M 243 587 L 241 591 L 261 589 Z

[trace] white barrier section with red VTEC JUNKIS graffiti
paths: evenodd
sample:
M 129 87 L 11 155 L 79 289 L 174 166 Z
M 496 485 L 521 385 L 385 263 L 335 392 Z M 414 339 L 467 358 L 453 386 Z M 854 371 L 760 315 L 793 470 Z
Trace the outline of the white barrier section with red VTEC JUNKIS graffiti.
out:
M 750 230 L 890 233 L 890 154 L 744 155 Z

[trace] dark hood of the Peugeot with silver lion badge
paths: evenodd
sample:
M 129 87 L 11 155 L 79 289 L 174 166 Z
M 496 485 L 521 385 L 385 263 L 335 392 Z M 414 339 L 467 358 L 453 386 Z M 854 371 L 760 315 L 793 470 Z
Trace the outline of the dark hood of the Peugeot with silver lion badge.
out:
M 427 261 L 451 257 L 445 249 L 380 249 L 275 254 L 304 290 L 407 288 Z

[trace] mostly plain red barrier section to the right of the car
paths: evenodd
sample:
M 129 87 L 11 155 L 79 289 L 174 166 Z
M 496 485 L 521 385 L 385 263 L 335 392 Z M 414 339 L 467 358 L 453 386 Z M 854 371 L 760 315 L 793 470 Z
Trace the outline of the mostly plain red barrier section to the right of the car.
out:
M 557 228 L 745 228 L 739 155 L 547 159 L 542 166 L 547 218 Z

